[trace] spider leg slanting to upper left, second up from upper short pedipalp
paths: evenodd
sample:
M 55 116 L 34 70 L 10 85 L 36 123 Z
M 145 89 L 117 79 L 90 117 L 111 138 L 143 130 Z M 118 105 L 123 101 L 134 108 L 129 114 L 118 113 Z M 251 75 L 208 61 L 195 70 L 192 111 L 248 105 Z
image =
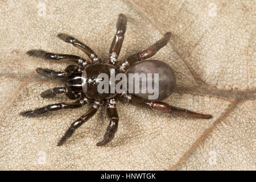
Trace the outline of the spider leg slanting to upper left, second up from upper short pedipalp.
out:
M 58 38 L 64 40 L 64 42 L 71 43 L 76 48 L 79 48 L 82 51 L 84 51 L 86 55 L 88 55 L 90 59 L 93 61 L 93 63 L 96 61 L 101 62 L 101 59 L 96 55 L 96 53 L 91 48 L 86 46 L 84 43 L 81 43 L 79 40 L 73 38 L 72 36 L 68 34 L 58 34 Z

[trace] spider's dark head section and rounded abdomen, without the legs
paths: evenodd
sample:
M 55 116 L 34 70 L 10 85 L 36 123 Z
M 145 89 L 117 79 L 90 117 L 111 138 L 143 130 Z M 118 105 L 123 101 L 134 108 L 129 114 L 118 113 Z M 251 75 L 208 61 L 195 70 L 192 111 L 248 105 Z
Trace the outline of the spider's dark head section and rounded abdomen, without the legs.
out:
M 71 69 L 72 68 L 72 69 Z M 73 65 L 69 66 L 65 71 L 68 73 L 68 76 L 65 78 L 65 85 L 69 90 L 73 90 L 75 94 L 84 93 L 87 98 L 101 101 L 108 98 L 113 98 L 117 96 L 117 93 L 98 93 L 97 87 L 100 84 L 101 80 L 98 80 L 97 77 L 101 73 L 106 73 L 110 78 L 110 73 L 114 69 L 115 76 L 118 73 L 121 73 L 119 69 L 115 68 L 109 63 L 94 63 L 87 65 L 82 71 L 79 71 L 79 68 L 74 67 Z M 141 63 L 135 64 L 133 67 L 129 68 L 125 72 L 127 77 L 129 73 L 158 73 L 159 74 L 159 97 L 158 100 L 163 100 L 167 98 L 174 89 L 175 86 L 175 75 L 172 69 L 162 61 L 158 60 L 147 60 L 142 61 Z M 151 83 L 154 85 L 154 80 Z M 111 80 L 109 79 L 109 90 Z M 115 82 L 114 84 L 117 84 Z M 135 87 L 135 83 L 134 83 Z M 128 92 L 129 86 L 127 86 Z M 146 90 L 146 93 L 142 93 L 141 90 Z M 141 98 L 148 98 L 150 93 L 147 92 L 146 88 L 142 87 L 142 84 L 139 85 L 139 93 L 134 93 L 135 96 Z

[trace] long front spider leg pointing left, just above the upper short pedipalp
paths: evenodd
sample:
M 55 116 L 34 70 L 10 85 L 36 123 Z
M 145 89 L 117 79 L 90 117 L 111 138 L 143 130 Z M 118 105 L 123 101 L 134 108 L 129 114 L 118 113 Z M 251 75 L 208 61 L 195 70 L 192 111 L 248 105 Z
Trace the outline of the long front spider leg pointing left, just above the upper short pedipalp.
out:
M 65 54 L 59 54 L 59 53 L 51 53 L 46 52 L 42 49 L 32 49 L 30 51 L 27 51 L 27 54 L 34 57 L 40 57 L 46 60 L 64 60 L 64 61 L 73 61 L 79 65 L 82 65 L 82 67 L 85 67 L 88 64 L 88 61 L 83 59 L 82 57 L 76 56 L 76 55 L 65 55 Z

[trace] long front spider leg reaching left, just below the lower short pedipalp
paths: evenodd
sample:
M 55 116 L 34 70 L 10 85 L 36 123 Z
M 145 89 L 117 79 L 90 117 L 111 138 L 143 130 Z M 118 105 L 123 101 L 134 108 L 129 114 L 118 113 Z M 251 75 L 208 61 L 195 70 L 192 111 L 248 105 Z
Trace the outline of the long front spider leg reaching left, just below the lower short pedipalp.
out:
M 77 107 L 81 107 L 81 106 L 85 105 L 86 103 L 89 103 L 89 100 L 88 100 L 88 98 L 84 97 L 75 102 L 60 102 L 57 104 L 51 104 L 51 105 L 47 105 L 44 107 L 40 107 L 35 110 L 23 111 L 20 113 L 20 115 L 27 116 L 27 117 L 34 117 L 36 115 L 49 113 L 49 111 L 53 111 L 53 110 L 74 109 Z

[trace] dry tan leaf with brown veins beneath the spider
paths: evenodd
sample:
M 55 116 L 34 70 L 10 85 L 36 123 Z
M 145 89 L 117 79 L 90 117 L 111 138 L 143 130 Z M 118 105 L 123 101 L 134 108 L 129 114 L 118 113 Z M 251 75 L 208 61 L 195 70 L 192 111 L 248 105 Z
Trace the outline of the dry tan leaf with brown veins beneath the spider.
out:
M 7 0 L 0 5 L 0 169 L 256 169 L 254 1 Z M 35 73 L 38 67 L 63 70 L 68 63 L 26 52 L 44 49 L 87 59 L 56 37 L 63 32 L 106 59 L 119 13 L 128 19 L 119 58 L 171 31 L 170 43 L 152 57 L 169 64 L 177 77 L 166 101 L 214 118 L 119 104 L 119 128 L 107 146 L 96 146 L 108 125 L 98 112 L 56 147 L 88 106 L 20 117 L 20 111 L 68 100 L 41 98 L 43 90 L 60 83 Z

